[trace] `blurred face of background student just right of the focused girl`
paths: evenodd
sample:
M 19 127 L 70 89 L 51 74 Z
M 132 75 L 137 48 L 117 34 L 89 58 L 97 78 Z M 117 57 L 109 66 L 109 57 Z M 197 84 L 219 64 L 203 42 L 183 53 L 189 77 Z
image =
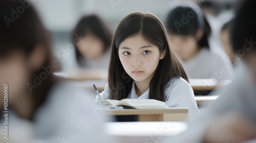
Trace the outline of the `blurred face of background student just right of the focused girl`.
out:
M 183 61 L 189 60 L 198 52 L 197 40 L 193 36 L 172 35 L 170 41 L 174 45 L 175 53 Z

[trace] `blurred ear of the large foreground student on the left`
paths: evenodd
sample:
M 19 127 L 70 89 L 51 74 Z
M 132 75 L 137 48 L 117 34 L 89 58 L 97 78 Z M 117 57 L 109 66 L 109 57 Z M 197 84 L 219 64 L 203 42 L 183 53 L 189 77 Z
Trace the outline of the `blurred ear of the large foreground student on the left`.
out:
M 44 45 L 36 45 L 33 52 L 28 57 L 28 64 L 31 71 L 38 70 L 42 67 L 46 59 Z

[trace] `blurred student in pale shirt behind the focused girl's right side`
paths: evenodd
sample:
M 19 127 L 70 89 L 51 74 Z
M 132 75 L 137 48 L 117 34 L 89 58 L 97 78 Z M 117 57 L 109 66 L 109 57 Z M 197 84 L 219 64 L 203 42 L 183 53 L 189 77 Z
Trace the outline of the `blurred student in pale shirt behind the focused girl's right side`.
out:
M 230 66 L 209 50 L 204 20 L 198 5 L 192 2 L 176 4 L 166 20 L 170 41 L 188 78 L 230 80 Z

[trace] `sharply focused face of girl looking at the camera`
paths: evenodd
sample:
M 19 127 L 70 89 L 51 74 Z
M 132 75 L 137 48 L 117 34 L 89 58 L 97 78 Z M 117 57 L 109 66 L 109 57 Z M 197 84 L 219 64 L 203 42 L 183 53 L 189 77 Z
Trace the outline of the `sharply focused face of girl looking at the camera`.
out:
M 126 73 L 137 82 L 151 80 L 160 59 L 158 47 L 148 43 L 141 35 L 125 39 L 119 45 L 119 58 Z

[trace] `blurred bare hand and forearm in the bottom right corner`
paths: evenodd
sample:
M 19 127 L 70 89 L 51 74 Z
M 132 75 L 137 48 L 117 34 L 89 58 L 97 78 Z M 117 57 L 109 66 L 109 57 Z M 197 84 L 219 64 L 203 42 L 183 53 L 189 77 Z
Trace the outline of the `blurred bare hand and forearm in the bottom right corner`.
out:
M 256 138 L 256 126 L 239 114 L 216 118 L 207 127 L 203 142 L 233 143 Z

